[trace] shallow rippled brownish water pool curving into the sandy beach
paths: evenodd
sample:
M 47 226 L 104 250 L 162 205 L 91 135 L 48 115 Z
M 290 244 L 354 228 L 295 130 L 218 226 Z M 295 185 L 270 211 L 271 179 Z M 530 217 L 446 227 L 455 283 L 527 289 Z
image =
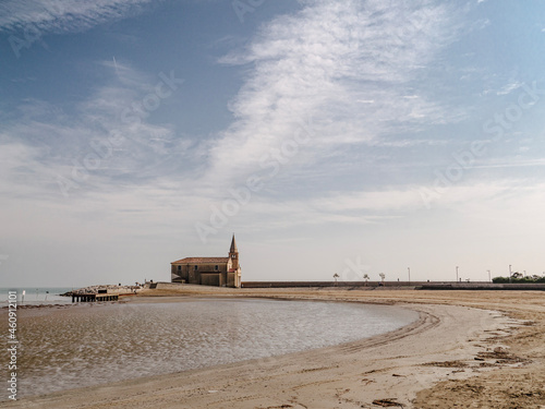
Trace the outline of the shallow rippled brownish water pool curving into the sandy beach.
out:
M 277 300 L 21 310 L 19 392 L 46 394 L 320 348 L 416 318 L 395 306 Z

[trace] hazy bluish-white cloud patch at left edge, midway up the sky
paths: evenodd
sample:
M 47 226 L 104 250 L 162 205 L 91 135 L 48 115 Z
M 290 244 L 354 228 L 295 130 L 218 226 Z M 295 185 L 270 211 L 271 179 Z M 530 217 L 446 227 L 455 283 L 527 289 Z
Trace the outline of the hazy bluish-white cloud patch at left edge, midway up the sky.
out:
M 198 146 L 177 137 L 171 125 L 148 121 L 153 112 L 146 111 L 146 100 L 161 104 L 152 94 L 160 77 L 119 61 L 117 73 L 111 62 L 98 69 L 109 72 L 111 80 L 70 115 L 49 103 L 27 99 L 19 106 L 17 121 L 4 122 L 0 133 L 4 183 L 23 181 L 25 191 L 34 187 L 36 194 L 60 195 L 57 184 L 68 180 L 70 193 L 77 195 L 108 191 L 111 185 L 145 184 L 177 173 L 182 160 L 195 160 Z M 165 86 L 161 93 L 173 91 Z

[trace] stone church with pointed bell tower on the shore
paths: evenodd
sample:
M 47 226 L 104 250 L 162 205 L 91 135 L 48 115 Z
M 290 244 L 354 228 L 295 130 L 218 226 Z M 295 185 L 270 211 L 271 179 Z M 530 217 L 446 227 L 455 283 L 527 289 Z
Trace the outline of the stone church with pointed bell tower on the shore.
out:
M 234 234 L 227 257 L 185 257 L 170 265 L 172 282 L 235 288 L 241 286 L 239 250 Z

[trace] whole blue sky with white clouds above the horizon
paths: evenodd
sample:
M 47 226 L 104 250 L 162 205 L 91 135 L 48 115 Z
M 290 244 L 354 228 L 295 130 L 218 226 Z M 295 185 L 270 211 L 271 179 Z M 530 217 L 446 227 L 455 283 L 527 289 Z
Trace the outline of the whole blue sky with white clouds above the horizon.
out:
M 0 287 L 545 274 L 545 3 L 5 0 Z M 458 276 L 457 276 L 458 267 Z

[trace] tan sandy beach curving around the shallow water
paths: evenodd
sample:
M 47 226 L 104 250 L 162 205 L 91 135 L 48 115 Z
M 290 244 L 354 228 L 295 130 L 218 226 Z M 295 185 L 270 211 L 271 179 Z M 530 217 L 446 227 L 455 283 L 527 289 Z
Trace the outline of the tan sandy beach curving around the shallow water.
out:
M 0 408 L 545 408 L 545 293 L 149 290 L 126 302 L 265 297 L 396 304 L 420 320 L 355 342 L 1 402 Z

